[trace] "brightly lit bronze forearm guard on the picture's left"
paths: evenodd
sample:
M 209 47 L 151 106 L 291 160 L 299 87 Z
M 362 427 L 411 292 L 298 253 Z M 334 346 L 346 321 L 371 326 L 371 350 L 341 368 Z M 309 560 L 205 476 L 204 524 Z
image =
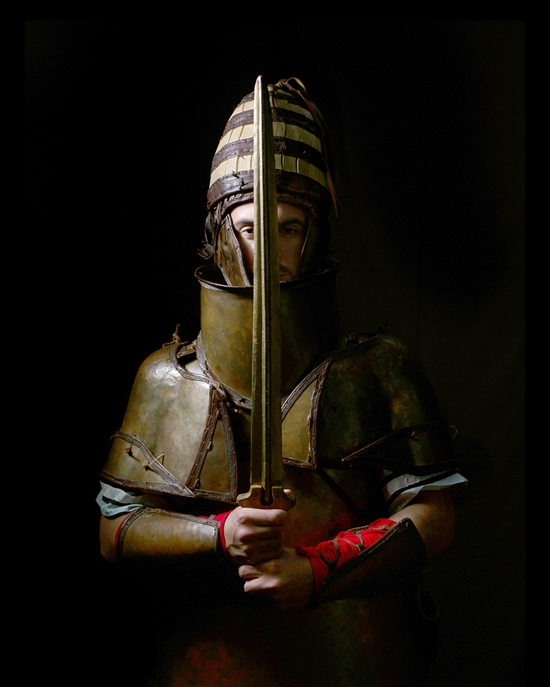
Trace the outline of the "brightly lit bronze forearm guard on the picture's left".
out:
M 210 565 L 225 561 L 219 522 L 142 506 L 124 521 L 116 543 L 122 562 Z

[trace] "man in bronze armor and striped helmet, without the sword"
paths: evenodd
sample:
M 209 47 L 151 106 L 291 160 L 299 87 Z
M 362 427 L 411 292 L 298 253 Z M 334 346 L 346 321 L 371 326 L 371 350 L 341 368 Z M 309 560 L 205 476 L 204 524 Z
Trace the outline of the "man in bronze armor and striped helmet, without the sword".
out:
M 250 483 L 248 95 L 212 163 L 202 255 L 215 266 L 197 270 L 201 332 L 192 343 L 175 333 L 137 374 L 101 477 L 102 554 L 140 571 L 155 592 L 144 598 L 162 627 L 159 687 L 417 684 L 434 622 L 419 576 L 450 545 L 450 487 L 464 480 L 405 348 L 342 329 L 322 118 L 298 80 L 268 89 L 283 482 L 296 506 L 242 508 L 236 498 Z

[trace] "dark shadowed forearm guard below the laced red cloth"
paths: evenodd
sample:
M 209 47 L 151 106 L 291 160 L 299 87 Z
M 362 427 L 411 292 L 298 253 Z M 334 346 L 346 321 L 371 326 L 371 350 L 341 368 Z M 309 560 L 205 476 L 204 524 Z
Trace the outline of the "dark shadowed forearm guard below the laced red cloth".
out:
M 312 606 L 343 598 L 395 592 L 409 586 L 412 589 L 425 565 L 426 548 L 422 538 L 412 520 L 404 518 L 372 546 L 329 573 Z

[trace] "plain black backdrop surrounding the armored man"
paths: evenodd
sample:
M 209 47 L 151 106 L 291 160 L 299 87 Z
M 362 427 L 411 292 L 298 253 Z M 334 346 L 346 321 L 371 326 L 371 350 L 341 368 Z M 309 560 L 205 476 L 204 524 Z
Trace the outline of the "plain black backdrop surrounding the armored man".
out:
M 98 473 L 141 361 L 178 323 L 197 335 L 210 162 L 263 74 L 303 80 L 325 116 L 347 324 L 419 354 L 459 429 L 436 683 L 522 685 L 524 23 L 199 18 L 25 23 L 24 317 L 55 466 L 35 603 L 64 628 L 40 631 L 41 671 L 146 684 L 166 600 L 102 564 Z

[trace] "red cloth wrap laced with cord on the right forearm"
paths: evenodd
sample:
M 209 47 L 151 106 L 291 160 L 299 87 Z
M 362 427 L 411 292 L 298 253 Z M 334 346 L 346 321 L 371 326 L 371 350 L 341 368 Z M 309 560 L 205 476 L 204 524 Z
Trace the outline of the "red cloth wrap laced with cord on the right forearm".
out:
M 317 546 L 296 546 L 296 552 L 309 556 L 309 563 L 311 563 L 311 570 L 314 574 L 316 585 L 316 596 L 319 594 L 322 581 L 329 574 L 329 563 L 335 563 L 336 566 L 331 566 L 333 569 L 339 568 L 351 559 L 355 558 L 362 550 L 372 546 L 375 541 L 380 539 L 387 530 L 378 530 L 382 526 L 392 527 L 395 525 L 394 520 L 382 518 L 375 520 L 365 530 L 361 532 L 340 532 L 332 541 L 322 541 Z

